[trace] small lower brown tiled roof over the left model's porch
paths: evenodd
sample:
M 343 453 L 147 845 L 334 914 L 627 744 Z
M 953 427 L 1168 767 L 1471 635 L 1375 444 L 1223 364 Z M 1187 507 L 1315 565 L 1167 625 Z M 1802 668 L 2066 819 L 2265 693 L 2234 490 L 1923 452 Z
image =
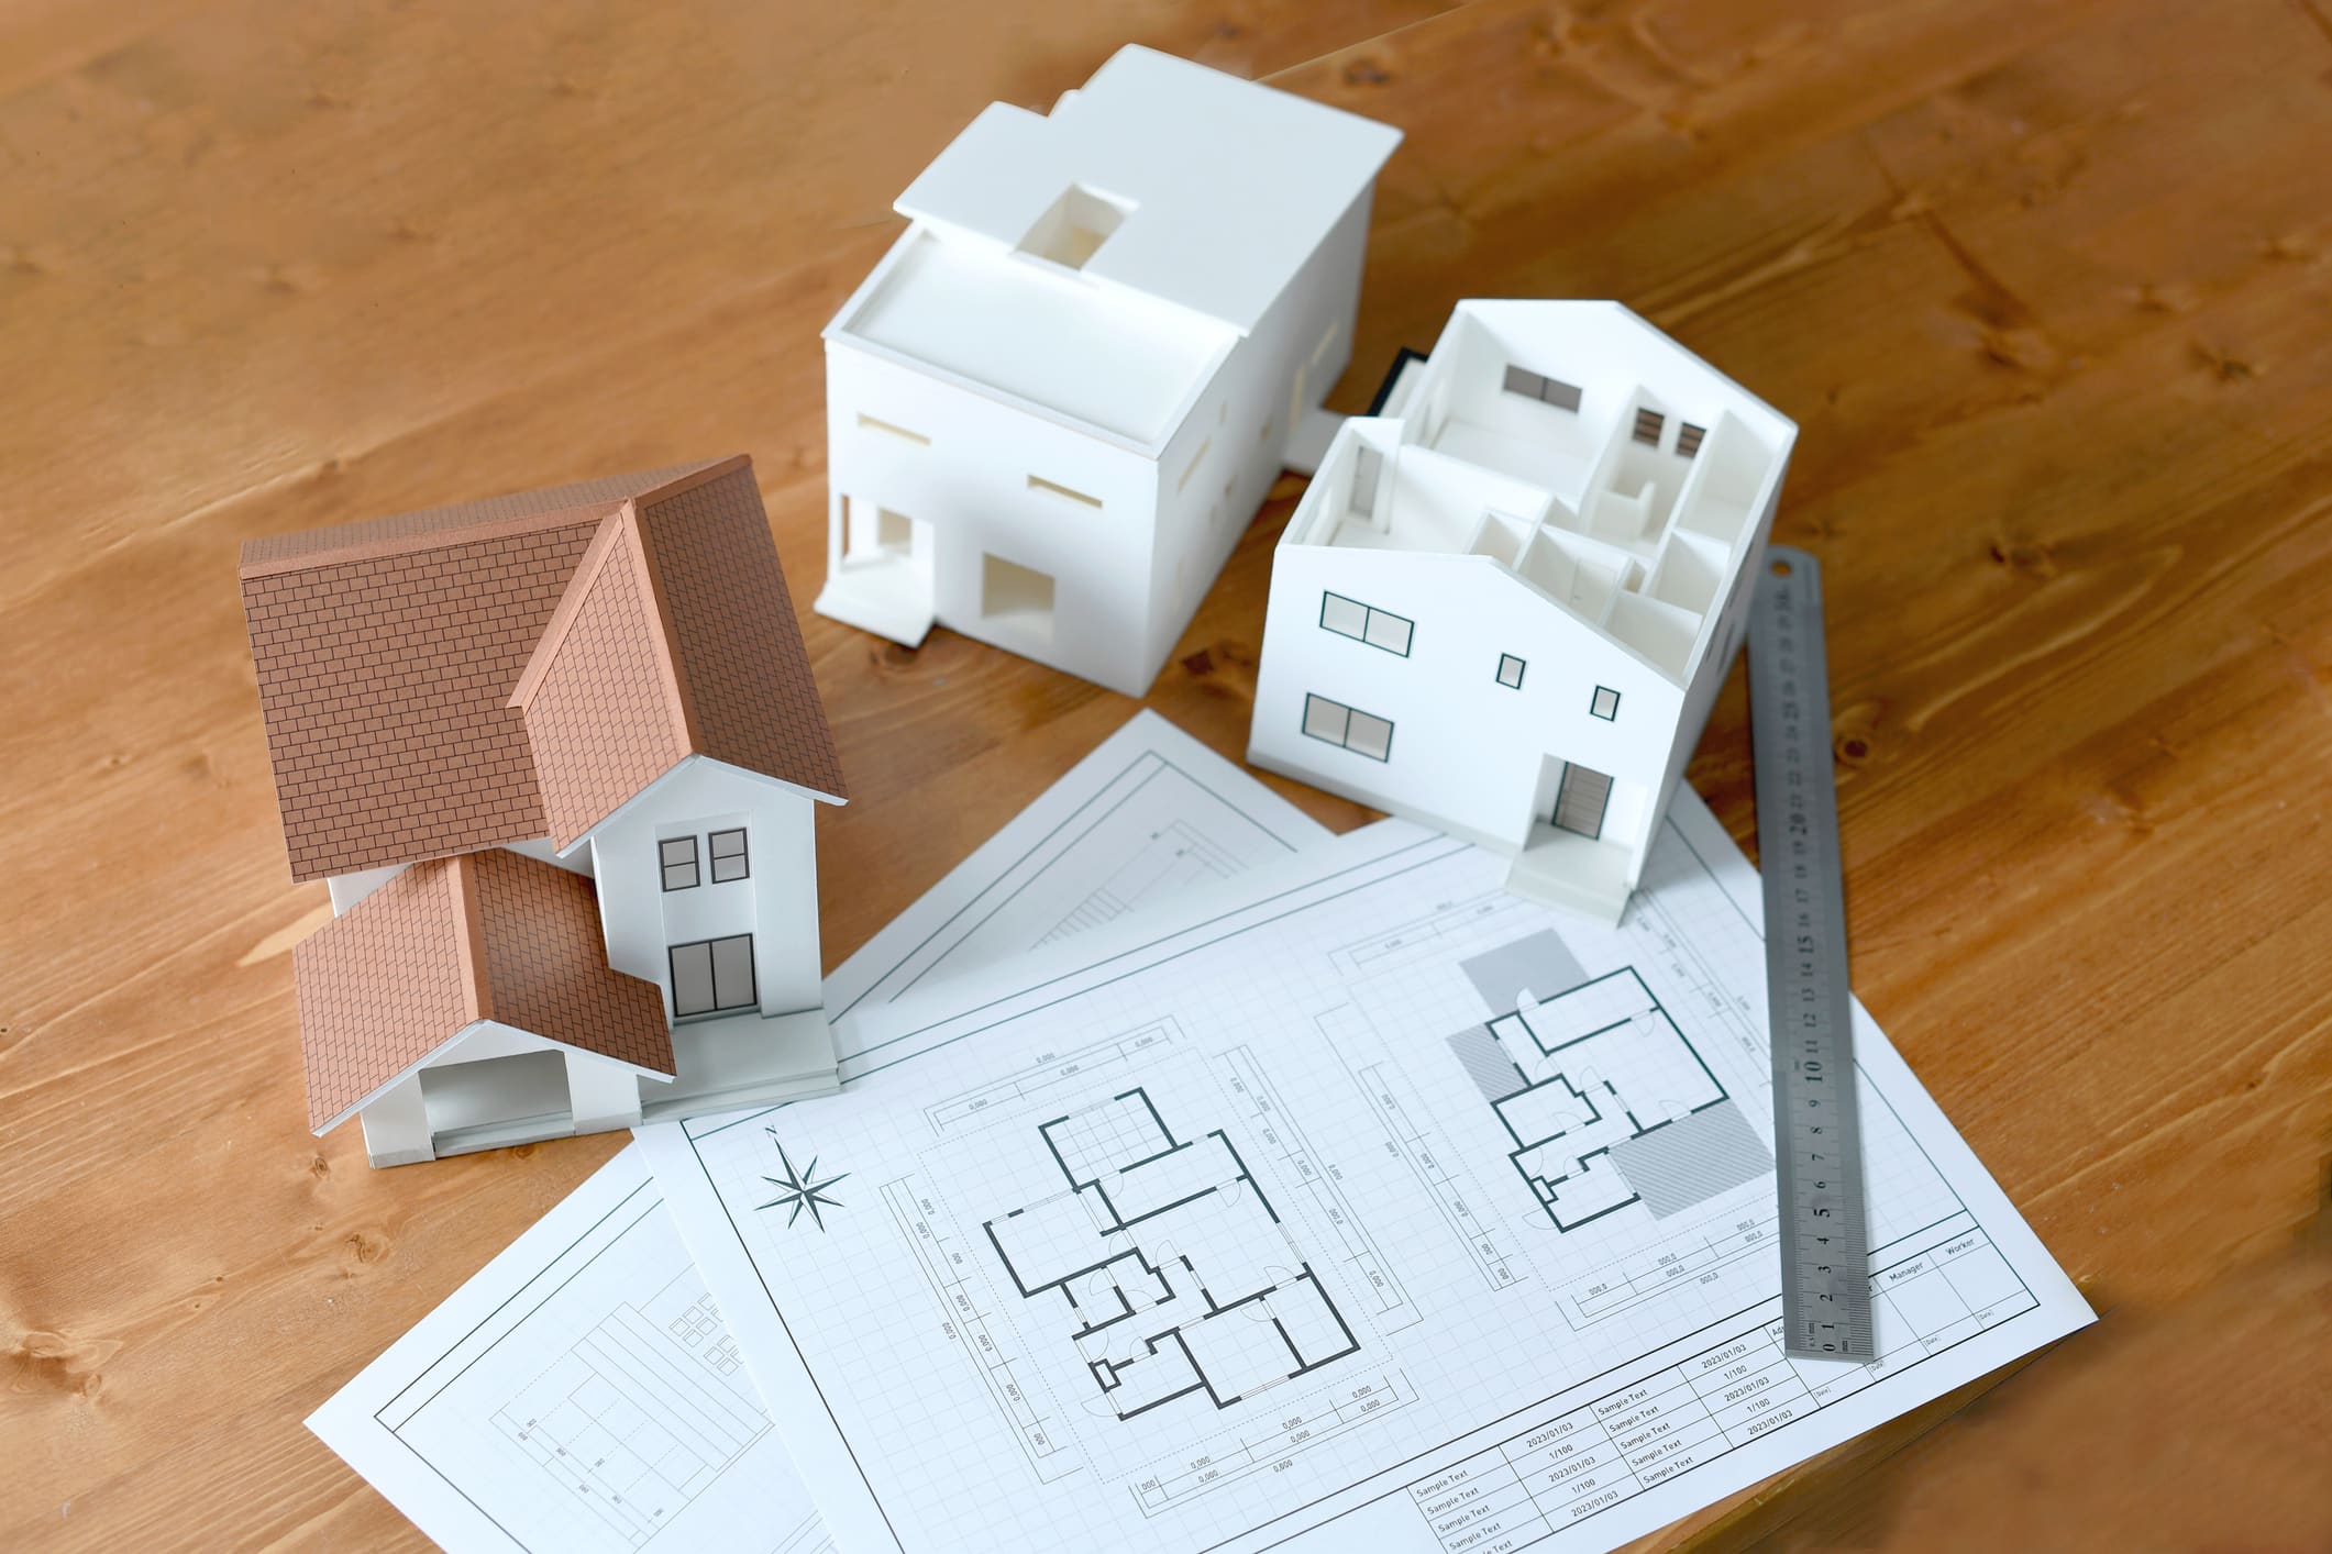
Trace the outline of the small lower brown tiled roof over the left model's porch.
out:
M 611 972 L 592 883 L 518 853 L 413 864 L 292 951 L 326 1132 L 478 1020 L 674 1074 L 655 983 Z

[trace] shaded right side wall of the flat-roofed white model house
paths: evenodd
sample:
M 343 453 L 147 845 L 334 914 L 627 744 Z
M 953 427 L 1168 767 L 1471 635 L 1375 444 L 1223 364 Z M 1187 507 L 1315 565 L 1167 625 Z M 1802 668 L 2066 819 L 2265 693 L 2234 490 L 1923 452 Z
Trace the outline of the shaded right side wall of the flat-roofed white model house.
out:
M 1369 189 L 1215 373 L 1157 464 L 1150 571 L 1150 673 L 1157 678 L 1222 564 L 1283 471 L 1294 424 L 1320 408 L 1353 359 L 1369 242 Z M 1133 692 L 1140 694 L 1140 692 Z

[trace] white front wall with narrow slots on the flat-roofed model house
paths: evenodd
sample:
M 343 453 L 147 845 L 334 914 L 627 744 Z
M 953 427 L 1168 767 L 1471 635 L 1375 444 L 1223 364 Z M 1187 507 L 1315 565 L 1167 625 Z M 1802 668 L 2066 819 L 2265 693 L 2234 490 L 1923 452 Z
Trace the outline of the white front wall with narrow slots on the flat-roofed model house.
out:
M 912 233 L 909 233 L 912 238 Z M 861 424 L 861 415 L 912 431 L 914 443 Z M 874 356 L 826 342 L 828 487 L 923 524 L 933 545 L 933 615 L 940 624 L 1040 664 L 1140 694 L 1150 641 L 1150 557 L 1159 466 L 1147 457 Z M 1098 508 L 1035 489 L 1049 480 Z M 828 575 L 842 557 L 828 555 Z M 982 615 L 982 557 L 996 555 L 1054 580 L 1052 629 Z

